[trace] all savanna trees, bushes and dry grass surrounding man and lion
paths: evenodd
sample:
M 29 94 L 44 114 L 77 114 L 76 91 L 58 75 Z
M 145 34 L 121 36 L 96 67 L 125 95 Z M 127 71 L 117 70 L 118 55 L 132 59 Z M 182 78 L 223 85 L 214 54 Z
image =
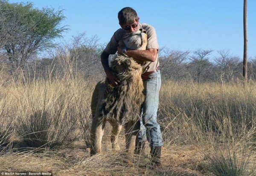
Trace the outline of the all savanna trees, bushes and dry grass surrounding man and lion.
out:
M 158 120 L 162 166 L 148 168 L 149 147 L 127 156 L 124 132 L 111 151 L 90 157 L 90 99 L 104 79 L 104 44 L 86 33 L 58 43 L 62 11 L 0 0 L 0 171 L 56 176 L 250 176 L 256 165 L 256 58 L 242 82 L 241 58 L 229 51 L 160 50 Z M 42 52 L 44 51 L 44 52 Z

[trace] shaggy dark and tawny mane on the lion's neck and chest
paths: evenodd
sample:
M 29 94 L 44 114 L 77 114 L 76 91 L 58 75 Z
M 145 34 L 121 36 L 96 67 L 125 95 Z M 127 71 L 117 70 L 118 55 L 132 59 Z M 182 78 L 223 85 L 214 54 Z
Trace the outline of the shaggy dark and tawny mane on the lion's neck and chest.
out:
M 142 67 L 135 60 L 121 55 L 112 64 L 115 65 L 115 71 L 119 73 L 118 77 L 122 82 L 117 87 L 106 86 L 103 114 L 106 119 L 117 120 L 122 125 L 130 120 L 137 121 L 144 101 Z M 121 70 L 124 71 L 120 72 Z M 110 85 L 108 79 L 106 82 Z

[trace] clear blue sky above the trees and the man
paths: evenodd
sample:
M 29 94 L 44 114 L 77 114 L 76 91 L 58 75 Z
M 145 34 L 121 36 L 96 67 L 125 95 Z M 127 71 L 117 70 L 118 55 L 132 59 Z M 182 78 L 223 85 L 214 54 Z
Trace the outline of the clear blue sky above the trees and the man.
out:
M 248 58 L 256 58 L 256 0 L 247 0 Z M 157 31 L 158 43 L 170 50 L 212 49 L 213 57 L 221 50 L 243 58 L 243 0 L 9 0 L 31 2 L 34 8 L 64 9 L 61 25 L 70 29 L 63 40 L 86 32 L 108 43 L 120 28 L 117 13 L 132 7 L 140 23 Z

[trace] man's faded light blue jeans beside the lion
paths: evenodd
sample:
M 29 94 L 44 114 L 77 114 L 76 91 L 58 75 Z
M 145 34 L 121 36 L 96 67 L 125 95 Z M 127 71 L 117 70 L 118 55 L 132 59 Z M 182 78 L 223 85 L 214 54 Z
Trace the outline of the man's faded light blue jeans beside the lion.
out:
M 137 135 L 138 142 L 146 139 L 151 147 L 163 146 L 160 125 L 157 123 L 157 110 L 159 104 L 159 91 L 161 87 L 160 71 L 148 75 L 150 79 L 143 80 L 145 101 L 143 103 L 140 118 L 140 132 Z

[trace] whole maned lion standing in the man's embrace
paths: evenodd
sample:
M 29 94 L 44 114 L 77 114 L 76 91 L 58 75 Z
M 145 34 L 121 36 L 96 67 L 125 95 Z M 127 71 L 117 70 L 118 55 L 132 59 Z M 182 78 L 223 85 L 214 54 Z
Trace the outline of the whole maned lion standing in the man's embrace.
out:
M 145 50 L 147 34 L 145 31 L 128 33 L 123 37 L 127 48 Z M 101 152 L 101 142 L 105 123 L 112 126 L 112 149 L 119 150 L 118 135 L 125 127 L 125 147 L 133 154 L 136 135 L 140 130 L 140 109 L 144 102 L 143 62 L 127 55 L 116 55 L 111 62 L 111 69 L 117 73 L 121 83 L 113 86 L 108 78 L 96 85 L 91 101 L 92 126 L 90 155 Z

